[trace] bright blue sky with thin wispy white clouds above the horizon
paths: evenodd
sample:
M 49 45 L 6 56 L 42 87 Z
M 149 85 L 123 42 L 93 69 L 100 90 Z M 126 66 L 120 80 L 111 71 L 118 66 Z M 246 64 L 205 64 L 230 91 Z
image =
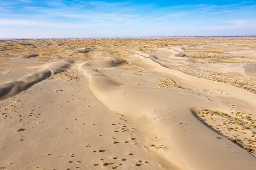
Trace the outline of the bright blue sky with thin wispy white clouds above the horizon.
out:
M 256 2 L 0 0 L 0 38 L 256 35 Z

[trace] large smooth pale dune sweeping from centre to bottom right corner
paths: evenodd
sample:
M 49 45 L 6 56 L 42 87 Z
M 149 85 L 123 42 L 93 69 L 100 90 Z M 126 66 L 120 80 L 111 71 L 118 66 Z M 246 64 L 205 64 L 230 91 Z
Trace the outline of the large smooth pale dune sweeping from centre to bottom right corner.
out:
M 183 93 L 182 90 L 124 85 L 89 67 L 88 63 L 80 68 L 88 76 L 95 96 L 111 110 L 131 119 L 138 131 L 143 132 L 141 136 L 157 136 L 150 149 L 181 169 L 256 168 L 254 156 L 206 127 L 192 114 L 192 108 L 227 109 L 221 102 L 205 102 L 204 96 Z M 151 128 L 141 124 L 141 120 L 148 122 Z M 145 144 L 150 144 L 148 142 Z

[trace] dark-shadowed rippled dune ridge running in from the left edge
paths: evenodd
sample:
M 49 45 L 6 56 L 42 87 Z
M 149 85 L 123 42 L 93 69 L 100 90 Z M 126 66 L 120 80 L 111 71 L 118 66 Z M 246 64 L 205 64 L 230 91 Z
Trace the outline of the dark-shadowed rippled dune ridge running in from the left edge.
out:
M 31 75 L 25 76 L 20 80 L 11 81 L 0 85 L 0 100 L 6 99 L 8 97 L 14 96 L 21 91 L 24 91 L 38 83 L 47 77 L 64 71 L 69 67 L 70 62 L 68 61 L 57 61 L 44 64 L 44 69 L 35 72 Z

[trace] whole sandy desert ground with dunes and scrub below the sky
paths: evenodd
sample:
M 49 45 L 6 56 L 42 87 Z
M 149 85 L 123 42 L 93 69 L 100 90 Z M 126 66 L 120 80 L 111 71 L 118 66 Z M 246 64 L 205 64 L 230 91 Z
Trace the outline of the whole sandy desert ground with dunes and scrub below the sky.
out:
M 255 170 L 256 38 L 0 40 L 0 169 Z

